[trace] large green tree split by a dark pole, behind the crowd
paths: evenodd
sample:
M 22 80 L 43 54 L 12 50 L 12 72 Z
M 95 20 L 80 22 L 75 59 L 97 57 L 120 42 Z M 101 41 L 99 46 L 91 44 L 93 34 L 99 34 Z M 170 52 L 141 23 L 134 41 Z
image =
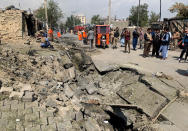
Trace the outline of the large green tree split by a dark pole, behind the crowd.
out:
M 148 24 L 148 4 L 143 4 L 139 6 L 132 6 L 130 10 L 130 15 L 129 15 L 129 20 L 133 25 L 137 25 L 138 21 L 138 10 L 139 10 L 139 15 L 140 19 L 138 22 L 138 25 L 143 27 Z

